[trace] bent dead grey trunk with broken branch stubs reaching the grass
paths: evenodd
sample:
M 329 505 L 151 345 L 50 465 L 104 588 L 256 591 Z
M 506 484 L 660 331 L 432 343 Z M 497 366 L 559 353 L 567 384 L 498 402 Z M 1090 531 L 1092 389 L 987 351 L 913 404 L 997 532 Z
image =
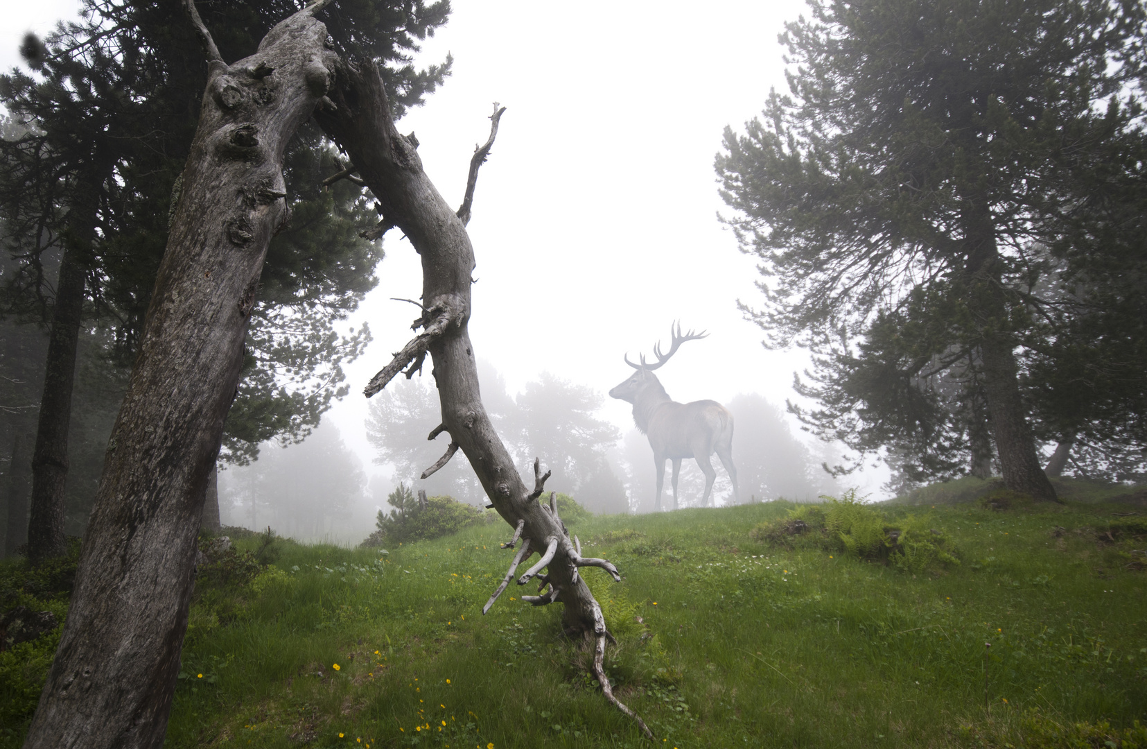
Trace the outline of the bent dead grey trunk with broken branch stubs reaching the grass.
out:
M 532 491 L 526 487 L 494 431 L 478 392 L 477 367 L 468 330 L 474 249 L 459 213 L 468 218 L 473 200 L 473 185 L 469 182 L 476 180 L 477 166 L 489 154 L 501 110 L 491 118 L 491 136 L 484 147 L 485 153 L 479 148 L 471 161 L 465 211 L 455 212 L 422 170 L 415 143 L 395 127 L 391 108 L 374 65 L 358 67 L 341 61 L 335 86 L 328 95 L 334 107 L 315 110 L 317 122 L 346 153 L 359 177 L 374 193 L 381 213 L 406 234 L 422 260 L 422 303 L 427 310 L 423 333 L 395 354 L 395 359 L 372 379 L 364 392 L 374 395 L 416 357 L 428 352 L 434 362 L 432 374 L 445 429 L 469 459 L 490 498 L 490 506 L 512 528 L 521 524 L 525 539 L 522 549 L 515 554 L 507 579 L 483 611 L 487 611 L 505 590 L 531 540 L 547 539 L 549 595 L 551 600 L 560 598 L 563 603 L 565 632 L 571 637 L 585 637 L 590 643 L 595 638 L 609 637 L 601 607 L 578 575 L 576 561 L 579 556 L 569 543 L 560 518 L 536 501 L 549 473 L 539 475 L 539 462 L 535 461 L 535 487 Z M 533 574 L 541 569 L 536 567 Z M 604 692 L 608 680 L 604 680 L 603 673 L 599 676 L 599 681 Z M 611 692 L 607 692 L 609 695 Z M 610 701 L 621 704 L 615 699 Z M 627 709 L 623 712 L 632 717 Z M 639 725 L 648 735 L 645 724 L 639 721 Z

